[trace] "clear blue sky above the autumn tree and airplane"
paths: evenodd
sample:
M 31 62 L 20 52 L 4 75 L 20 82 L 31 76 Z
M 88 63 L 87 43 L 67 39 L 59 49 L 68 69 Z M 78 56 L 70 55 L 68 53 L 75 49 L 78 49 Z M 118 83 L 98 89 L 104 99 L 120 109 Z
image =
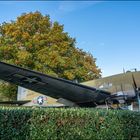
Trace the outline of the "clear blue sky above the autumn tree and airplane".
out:
M 140 70 L 140 1 L 0 1 L 0 24 L 35 11 L 63 24 L 103 77 Z

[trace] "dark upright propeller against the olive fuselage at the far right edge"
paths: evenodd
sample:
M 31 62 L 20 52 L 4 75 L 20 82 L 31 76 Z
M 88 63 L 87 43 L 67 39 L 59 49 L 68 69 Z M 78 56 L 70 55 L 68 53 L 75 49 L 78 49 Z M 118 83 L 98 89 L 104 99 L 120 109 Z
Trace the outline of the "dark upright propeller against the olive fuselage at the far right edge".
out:
M 136 98 L 138 100 L 138 110 L 140 111 L 140 88 L 138 88 L 137 84 L 136 84 L 136 80 L 134 75 L 132 74 L 132 79 L 133 79 L 133 88 L 134 88 L 134 92 L 136 95 Z

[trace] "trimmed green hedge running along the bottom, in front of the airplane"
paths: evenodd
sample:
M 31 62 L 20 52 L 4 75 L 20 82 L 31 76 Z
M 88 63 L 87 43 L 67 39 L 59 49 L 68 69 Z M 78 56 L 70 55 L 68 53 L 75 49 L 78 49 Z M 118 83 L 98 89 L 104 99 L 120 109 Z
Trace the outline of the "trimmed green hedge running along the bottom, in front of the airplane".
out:
M 140 112 L 0 107 L 0 140 L 140 139 Z

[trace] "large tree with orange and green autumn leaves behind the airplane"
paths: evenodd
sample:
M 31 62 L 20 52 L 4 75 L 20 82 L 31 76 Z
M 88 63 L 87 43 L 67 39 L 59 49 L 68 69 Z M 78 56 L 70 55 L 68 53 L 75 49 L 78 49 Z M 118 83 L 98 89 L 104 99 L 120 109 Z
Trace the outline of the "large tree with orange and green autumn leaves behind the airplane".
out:
M 96 59 L 75 44 L 63 25 L 40 12 L 0 25 L 0 61 L 79 82 L 99 78 Z

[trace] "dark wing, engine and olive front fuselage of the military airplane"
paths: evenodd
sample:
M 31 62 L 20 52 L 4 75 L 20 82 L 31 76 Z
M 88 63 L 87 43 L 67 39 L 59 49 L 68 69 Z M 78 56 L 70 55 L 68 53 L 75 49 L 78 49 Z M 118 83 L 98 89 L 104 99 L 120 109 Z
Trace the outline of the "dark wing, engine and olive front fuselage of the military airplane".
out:
M 139 103 L 140 72 L 127 72 L 106 78 L 75 83 L 40 72 L 0 62 L 0 79 L 78 107 Z

